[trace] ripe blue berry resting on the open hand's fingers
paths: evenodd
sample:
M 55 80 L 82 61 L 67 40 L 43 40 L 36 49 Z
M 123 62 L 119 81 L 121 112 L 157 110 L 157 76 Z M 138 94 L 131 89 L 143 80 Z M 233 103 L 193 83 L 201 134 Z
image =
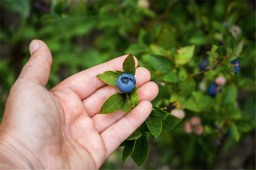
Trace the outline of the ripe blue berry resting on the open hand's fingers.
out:
M 116 85 L 119 88 L 119 90 L 123 92 L 130 92 L 134 89 L 136 84 L 136 79 L 132 74 L 124 73 L 121 74 L 117 81 Z

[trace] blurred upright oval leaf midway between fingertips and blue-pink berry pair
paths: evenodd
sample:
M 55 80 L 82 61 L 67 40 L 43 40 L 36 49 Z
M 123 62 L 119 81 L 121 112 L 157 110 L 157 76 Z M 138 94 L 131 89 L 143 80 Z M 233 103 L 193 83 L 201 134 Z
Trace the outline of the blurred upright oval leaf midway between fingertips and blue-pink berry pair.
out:
M 187 75 L 186 79 L 182 83 L 181 95 L 188 96 L 195 89 L 196 89 L 196 83 L 195 83 L 194 79 L 190 75 Z

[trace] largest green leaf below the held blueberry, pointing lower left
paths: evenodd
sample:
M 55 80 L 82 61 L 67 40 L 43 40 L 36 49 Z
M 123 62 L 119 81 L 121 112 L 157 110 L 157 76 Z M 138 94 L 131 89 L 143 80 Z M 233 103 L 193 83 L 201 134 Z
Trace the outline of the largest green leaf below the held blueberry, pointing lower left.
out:
M 100 108 L 99 114 L 114 113 L 124 105 L 124 98 L 119 93 L 110 96 Z

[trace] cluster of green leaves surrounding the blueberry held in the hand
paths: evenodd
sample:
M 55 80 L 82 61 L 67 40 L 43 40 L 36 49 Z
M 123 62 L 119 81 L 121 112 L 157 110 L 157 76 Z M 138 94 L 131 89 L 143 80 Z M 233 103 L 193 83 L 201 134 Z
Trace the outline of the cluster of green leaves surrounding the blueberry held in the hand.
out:
M 123 63 L 124 71 L 105 71 L 102 74 L 98 74 L 100 78 L 106 84 L 116 86 L 118 77 L 123 73 L 129 73 L 135 75 L 136 67 L 132 54 L 129 54 Z M 134 87 L 131 92 L 120 92 L 110 96 L 104 104 L 101 106 L 99 114 L 109 114 L 122 109 L 126 113 L 131 112 L 131 107 L 136 107 L 139 104 L 138 87 Z

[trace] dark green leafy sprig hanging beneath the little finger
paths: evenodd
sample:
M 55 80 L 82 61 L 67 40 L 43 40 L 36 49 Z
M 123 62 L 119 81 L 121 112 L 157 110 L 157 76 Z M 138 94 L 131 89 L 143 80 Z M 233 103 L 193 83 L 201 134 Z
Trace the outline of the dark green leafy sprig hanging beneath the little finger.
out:
M 140 167 L 149 154 L 149 140 L 157 138 L 161 131 L 170 131 L 181 121 L 180 118 L 163 111 L 162 108 L 153 107 L 150 116 L 144 123 L 131 134 L 120 146 L 123 150 L 123 163 L 131 157 Z

